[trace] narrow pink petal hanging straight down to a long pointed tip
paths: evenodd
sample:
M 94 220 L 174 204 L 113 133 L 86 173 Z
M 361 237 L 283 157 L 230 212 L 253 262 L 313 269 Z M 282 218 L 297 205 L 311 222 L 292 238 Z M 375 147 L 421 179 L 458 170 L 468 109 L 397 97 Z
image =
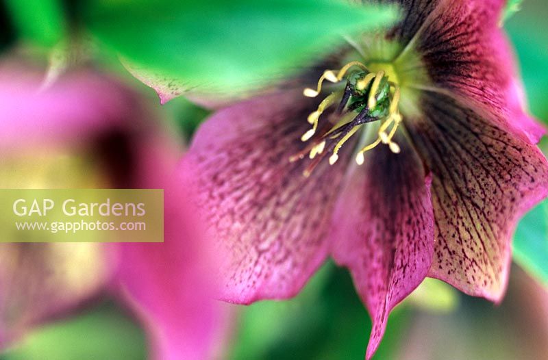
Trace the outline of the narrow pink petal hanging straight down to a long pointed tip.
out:
M 381 342 L 388 313 L 423 281 L 434 253 L 429 177 L 412 146 L 403 137 L 398 144 L 400 154 L 382 146 L 354 166 L 329 237 L 373 319 L 366 359 Z

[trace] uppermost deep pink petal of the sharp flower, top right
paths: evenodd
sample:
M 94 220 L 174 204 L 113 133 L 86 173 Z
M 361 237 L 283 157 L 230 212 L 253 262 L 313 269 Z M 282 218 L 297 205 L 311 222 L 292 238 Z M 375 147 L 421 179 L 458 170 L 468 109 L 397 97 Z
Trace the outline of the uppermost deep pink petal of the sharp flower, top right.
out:
M 538 142 L 545 133 L 524 113 L 514 55 L 498 26 L 506 1 L 450 1 L 421 29 L 416 51 L 436 88 L 484 103 L 512 120 L 507 126 Z

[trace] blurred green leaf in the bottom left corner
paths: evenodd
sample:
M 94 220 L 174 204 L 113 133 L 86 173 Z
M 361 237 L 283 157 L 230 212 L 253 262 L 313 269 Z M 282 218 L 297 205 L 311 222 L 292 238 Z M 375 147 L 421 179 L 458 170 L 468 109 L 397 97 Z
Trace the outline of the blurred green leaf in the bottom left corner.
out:
M 103 303 L 92 311 L 36 329 L 2 360 L 145 360 L 145 333 L 119 307 Z

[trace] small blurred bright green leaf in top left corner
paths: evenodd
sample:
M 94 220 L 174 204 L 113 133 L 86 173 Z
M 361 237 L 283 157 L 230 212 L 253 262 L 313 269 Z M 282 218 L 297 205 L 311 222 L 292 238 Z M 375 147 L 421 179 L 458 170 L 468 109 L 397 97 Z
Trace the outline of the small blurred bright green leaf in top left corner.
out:
M 66 29 L 60 0 L 7 0 L 5 2 L 18 34 L 45 47 L 52 47 Z

